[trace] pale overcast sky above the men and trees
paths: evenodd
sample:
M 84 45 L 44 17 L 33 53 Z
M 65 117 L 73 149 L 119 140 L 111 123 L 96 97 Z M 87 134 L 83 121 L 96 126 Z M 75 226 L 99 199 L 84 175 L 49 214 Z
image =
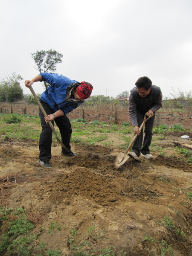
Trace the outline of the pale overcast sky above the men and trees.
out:
M 56 72 L 92 95 L 116 97 L 141 76 L 164 97 L 192 91 L 192 0 L 6 0 L 0 24 L 0 79 L 16 72 L 24 93 L 38 74 L 31 53 L 49 49 L 63 54 Z

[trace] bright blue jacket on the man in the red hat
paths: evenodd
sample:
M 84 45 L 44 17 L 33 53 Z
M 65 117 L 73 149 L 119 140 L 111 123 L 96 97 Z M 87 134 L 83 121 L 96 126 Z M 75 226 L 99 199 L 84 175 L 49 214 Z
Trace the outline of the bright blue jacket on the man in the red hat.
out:
M 69 91 L 80 84 L 78 81 L 70 80 L 68 77 L 57 73 L 40 73 L 40 76 L 42 81 L 50 84 L 41 94 L 41 100 L 46 102 L 53 112 L 60 109 L 64 114 L 67 114 L 84 102 L 76 101 L 74 96 L 67 97 Z

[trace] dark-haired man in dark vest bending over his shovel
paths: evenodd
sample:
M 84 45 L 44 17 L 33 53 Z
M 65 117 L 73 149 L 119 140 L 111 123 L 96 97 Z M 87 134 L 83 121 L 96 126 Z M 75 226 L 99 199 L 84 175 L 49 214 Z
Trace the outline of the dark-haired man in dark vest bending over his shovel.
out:
M 139 161 L 140 155 L 146 159 L 153 158 L 149 146 L 153 135 L 155 112 L 162 107 L 162 92 L 160 87 L 152 85 L 147 76 L 140 77 L 135 85 L 136 87 L 131 90 L 129 96 L 129 117 L 134 126 L 134 135 L 137 134 L 138 136 L 128 155 Z M 143 122 L 145 113 L 147 116 L 151 114 L 151 118 L 145 123 L 143 140 L 143 129 L 139 132 L 139 127 Z

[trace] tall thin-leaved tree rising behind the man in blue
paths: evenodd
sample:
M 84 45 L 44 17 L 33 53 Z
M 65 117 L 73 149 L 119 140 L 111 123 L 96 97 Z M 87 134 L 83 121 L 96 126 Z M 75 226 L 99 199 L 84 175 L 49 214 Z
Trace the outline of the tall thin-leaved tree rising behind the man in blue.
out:
M 36 70 L 39 71 L 39 73 L 46 73 L 51 72 L 54 73 L 56 70 L 56 64 L 62 63 L 63 61 L 61 58 L 63 58 L 63 55 L 55 50 L 48 50 L 48 51 L 37 51 L 31 53 L 31 56 L 37 65 Z M 49 86 L 48 83 L 44 81 L 44 86 L 47 88 Z

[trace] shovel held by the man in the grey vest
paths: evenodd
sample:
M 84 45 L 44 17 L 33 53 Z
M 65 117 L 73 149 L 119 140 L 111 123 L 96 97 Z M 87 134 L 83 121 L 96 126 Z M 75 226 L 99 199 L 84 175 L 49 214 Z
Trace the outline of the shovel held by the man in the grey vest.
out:
M 149 118 L 151 118 L 151 115 L 148 116 L 148 118 L 146 118 L 146 114 L 144 116 L 143 122 L 139 128 L 139 132 L 143 129 L 143 126 L 145 125 L 145 122 L 147 122 L 147 120 Z M 123 154 L 122 152 L 116 157 L 116 160 L 114 161 L 114 166 L 116 169 L 118 169 L 119 167 L 121 167 L 128 159 L 129 159 L 129 149 L 131 148 L 131 146 L 133 145 L 134 141 L 137 139 L 137 134 L 134 135 L 133 139 L 131 140 L 131 143 L 129 144 L 128 148 L 126 149 L 125 153 Z

